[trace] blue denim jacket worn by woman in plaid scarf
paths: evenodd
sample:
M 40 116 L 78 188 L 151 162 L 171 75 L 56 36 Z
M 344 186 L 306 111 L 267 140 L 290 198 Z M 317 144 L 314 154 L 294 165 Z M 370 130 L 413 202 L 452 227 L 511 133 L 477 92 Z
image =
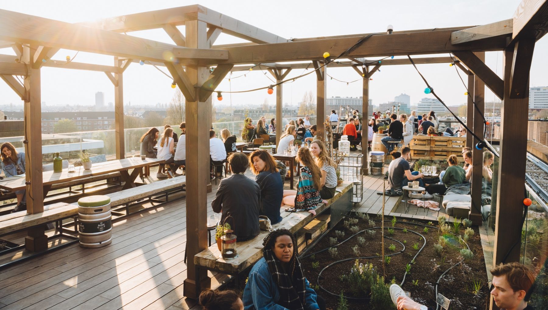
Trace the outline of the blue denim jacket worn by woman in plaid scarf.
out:
M 319 309 L 316 303 L 316 292 L 310 288 L 310 283 L 305 279 L 305 310 Z M 279 300 L 278 285 L 272 279 L 269 265 L 265 258 L 261 258 L 249 272 L 248 282 L 243 291 L 244 310 L 286 310 L 277 305 Z

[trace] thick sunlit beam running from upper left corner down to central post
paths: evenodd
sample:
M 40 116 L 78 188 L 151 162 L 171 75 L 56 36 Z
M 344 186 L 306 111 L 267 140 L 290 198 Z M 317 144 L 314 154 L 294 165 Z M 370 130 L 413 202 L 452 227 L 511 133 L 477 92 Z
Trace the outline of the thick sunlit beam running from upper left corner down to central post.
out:
M 0 40 L 134 59 L 164 61 L 176 45 L 0 10 Z

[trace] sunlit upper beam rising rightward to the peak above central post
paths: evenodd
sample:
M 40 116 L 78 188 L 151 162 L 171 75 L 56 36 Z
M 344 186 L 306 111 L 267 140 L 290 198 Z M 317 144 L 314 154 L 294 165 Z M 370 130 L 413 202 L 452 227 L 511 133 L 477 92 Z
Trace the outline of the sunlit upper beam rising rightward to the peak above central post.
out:
M 99 21 L 79 22 L 78 25 L 112 32 L 130 32 L 162 28 L 167 22 L 174 26 L 185 25 L 187 20 L 196 20 L 198 5 L 169 8 L 122 16 L 108 17 Z

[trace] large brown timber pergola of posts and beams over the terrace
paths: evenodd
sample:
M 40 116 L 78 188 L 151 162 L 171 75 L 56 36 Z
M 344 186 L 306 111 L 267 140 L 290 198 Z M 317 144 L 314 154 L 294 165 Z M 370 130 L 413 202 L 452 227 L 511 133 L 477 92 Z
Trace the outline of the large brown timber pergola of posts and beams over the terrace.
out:
M 519 248 L 511 248 L 521 237 L 520 219 L 523 212 L 521 189 L 515 184 L 525 182 L 529 70 L 536 40 L 548 31 L 548 2 L 523 0 L 511 19 L 488 25 L 435 28 L 414 31 L 376 33 L 358 44 L 338 62 L 324 65 L 323 53 L 340 55 L 358 40 L 370 34 L 286 39 L 248 25 L 201 5 L 148 11 L 116 16 L 101 21 L 70 24 L 43 17 L 0 10 L 0 48 L 12 47 L 14 56 L 0 55 L 0 77 L 25 102 L 25 150 L 27 160 L 27 208 L 31 214 L 43 212 L 42 138 L 41 127 L 41 68 L 62 67 L 105 72 L 115 87 L 116 154 L 124 157 L 123 74 L 132 62 L 149 61 L 165 66 L 186 98 L 187 161 L 187 232 L 196 238 L 187 239 L 189 257 L 207 247 L 207 185 L 209 183 L 209 126 L 212 92 L 230 71 L 248 69 L 242 64 L 260 64 L 275 77 L 276 83 L 287 78 L 292 69 L 311 66 L 317 74 L 317 122 L 326 118 L 326 70 L 328 67 L 352 67 L 363 78 L 364 116 L 368 111 L 369 79 L 381 66 L 406 65 L 408 59 L 387 59 L 373 63 L 368 57 L 401 55 L 432 55 L 452 53 L 455 57 L 417 58 L 415 63 L 456 63 L 468 77 L 469 96 L 467 122 L 478 136 L 483 134 L 484 121 L 479 113 L 484 109 L 484 86 L 503 100 L 501 110 L 500 174 L 496 204 L 495 252 L 498 264 L 510 251 L 507 261 L 517 261 Z M 185 26 L 181 33 L 177 26 Z M 127 36 L 124 33 L 163 28 L 174 44 Z M 214 45 L 220 33 L 249 40 L 249 43 Z M 50 61 L 59 49 L 70 49 L 114 56 L 113 66 L 92 65 L 68 61 Z M 504 78 L 501 79 L 484 63 L 484 52 L 504 51 Z M 281 62 L 302 61 L 284 64 Z M 59 63 L 62 63 L 60 65 Z M 363 64 L 366 64 L 362 68 Z M 464 66 L 463 66 L 464 65 Z M 214 67 L 210 72 L 210 67 Z M 25 77 L 24 85 L 14 77 Z M 267 85 L 265 85 L 267 86 Z M 276 118 L 282 119 L 283 84 L 276 86 Z M 473 100 L 472 100 L 473 98 Z M 35 124 L 35 125 L 33 125 Z M 281 131 L 277 131 L 279 141 Z M 324 137 L 318 126 L 318 137 Z M 367 126 L 363 144 L 367 145 Z M 467 145 L 478 141 L 467 135 Z M 201 143 L 200 143 L 201 142 Z M 367 148 L 362 148 L 367 157 Z M 472 210 L 470 219 L 481 223 L 481 152 L 473 156 Z M 367 161 L 363 172 L 368 173 Z M 503 227 L 503 229 L 500 229 Z M 28 231 L 27 248 L 43 249 L 44 230 Z M 196 296 L 195 279 L 202 286 L 209 283 L 207 273 L 195 274 L 193 260 L 187 265 L 184 294 Z

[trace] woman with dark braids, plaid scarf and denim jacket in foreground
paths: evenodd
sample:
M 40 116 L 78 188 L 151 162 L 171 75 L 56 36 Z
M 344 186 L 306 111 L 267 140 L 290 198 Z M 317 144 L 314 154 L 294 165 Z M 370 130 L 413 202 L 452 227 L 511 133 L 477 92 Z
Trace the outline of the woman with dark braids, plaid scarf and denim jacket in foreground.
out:
M 264 239 L 262 258 L 249 272 L 243 291 L 246 310 L 324 310 L 326 302 L 310 288 L 298 257 L 296 239 L 278 229 Z

